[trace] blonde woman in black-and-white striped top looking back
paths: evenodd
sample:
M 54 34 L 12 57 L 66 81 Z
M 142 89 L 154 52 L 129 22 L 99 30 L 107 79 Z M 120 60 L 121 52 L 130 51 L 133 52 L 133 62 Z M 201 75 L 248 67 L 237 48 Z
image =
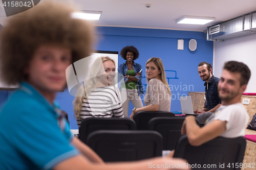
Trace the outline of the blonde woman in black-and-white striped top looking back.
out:
M 115 61 L 110 57 L 99 57 L 92 64 L 88 79 L 73 102 L 78 127 L 88 117 L 123 117 L 115 70 Z

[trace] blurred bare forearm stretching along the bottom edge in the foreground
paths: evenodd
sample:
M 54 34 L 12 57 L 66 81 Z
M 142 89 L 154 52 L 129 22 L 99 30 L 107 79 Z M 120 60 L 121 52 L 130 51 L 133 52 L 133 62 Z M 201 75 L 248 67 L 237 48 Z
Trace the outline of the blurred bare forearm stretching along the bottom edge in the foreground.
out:
M 123 163 L 106 163 L 106 164 L 97 164 L 92 163 L 87 160 L 82 155 L 74 156 L 69 159 L 66 159 L 59 164 L 57 164 L 53 169 L 54 170 L 144 170 L 152 169 L 156 165 L 165 165 L 161 169 L 190 169 L 187 167 L 187 161 L 180 158 L 169 158 L 169 157 L 157 157 L 152 159 L 145 159 L 141 161 L 134 162 L 123 162 Z M 172 168 L 172 165 L 183 165 Z

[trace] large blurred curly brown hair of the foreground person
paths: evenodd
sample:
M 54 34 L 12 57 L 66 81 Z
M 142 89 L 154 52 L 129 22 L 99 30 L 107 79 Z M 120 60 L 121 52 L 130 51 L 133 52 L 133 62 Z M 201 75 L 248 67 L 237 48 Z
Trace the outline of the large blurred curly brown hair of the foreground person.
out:
M 75 9 L 68 4 L 47 1 L 8 20 L 0 33 L 0 72 L 5 83 L 26 80 L 24 69 L 41 45 L 70 48 L 72 62 L 91 55 L 93 27 L 72 18 L 72 12 Z

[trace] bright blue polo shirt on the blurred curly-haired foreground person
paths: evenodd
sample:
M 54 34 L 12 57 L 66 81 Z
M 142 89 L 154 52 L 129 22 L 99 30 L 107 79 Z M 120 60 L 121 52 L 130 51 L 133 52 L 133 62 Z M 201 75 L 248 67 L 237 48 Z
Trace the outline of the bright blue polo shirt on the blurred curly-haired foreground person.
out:
M 0 169 L 52 169 L 78 155 L 61 111 L 22 83 L 0 112 Z

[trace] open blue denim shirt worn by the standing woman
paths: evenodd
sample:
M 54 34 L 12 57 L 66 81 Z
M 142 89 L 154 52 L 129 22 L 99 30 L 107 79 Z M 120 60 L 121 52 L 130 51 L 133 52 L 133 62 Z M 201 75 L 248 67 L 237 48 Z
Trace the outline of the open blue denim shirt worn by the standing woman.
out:
M 135 71 L 135 75 L 137 74 L 137 72 L 139 72 L 141 70 L 141 65 L 140 64 L 137 64 L 133 61 L 133 69 Z M 128 78 L 125 78 L 124 76 L 126 76 L 126 72 L 128 70 L 128 66 L 127 66 L 127 61 L 120 64 L 118 66 L 118 82 L 121 83 L 121 86 L 126 83 L 129 79 Z M 120 76 L 120 74 L 122 75 L 122 77 Z M 121 79 L 123 78 L 124 81 L 121 81 Z M 135 78 L 137 79 L 137 87 L 138 87 L 138 93 L 139 95 L 142 95 L 144 94 L 144 89 L 143 89 L 143 86 L 142 86 L 142 83 L 141 83 L 141 80 L 142 80 L 142 71 L 140 72 L 140 76 L 135 76 Z M 121 90 L 121 89 L 120 89 Z

